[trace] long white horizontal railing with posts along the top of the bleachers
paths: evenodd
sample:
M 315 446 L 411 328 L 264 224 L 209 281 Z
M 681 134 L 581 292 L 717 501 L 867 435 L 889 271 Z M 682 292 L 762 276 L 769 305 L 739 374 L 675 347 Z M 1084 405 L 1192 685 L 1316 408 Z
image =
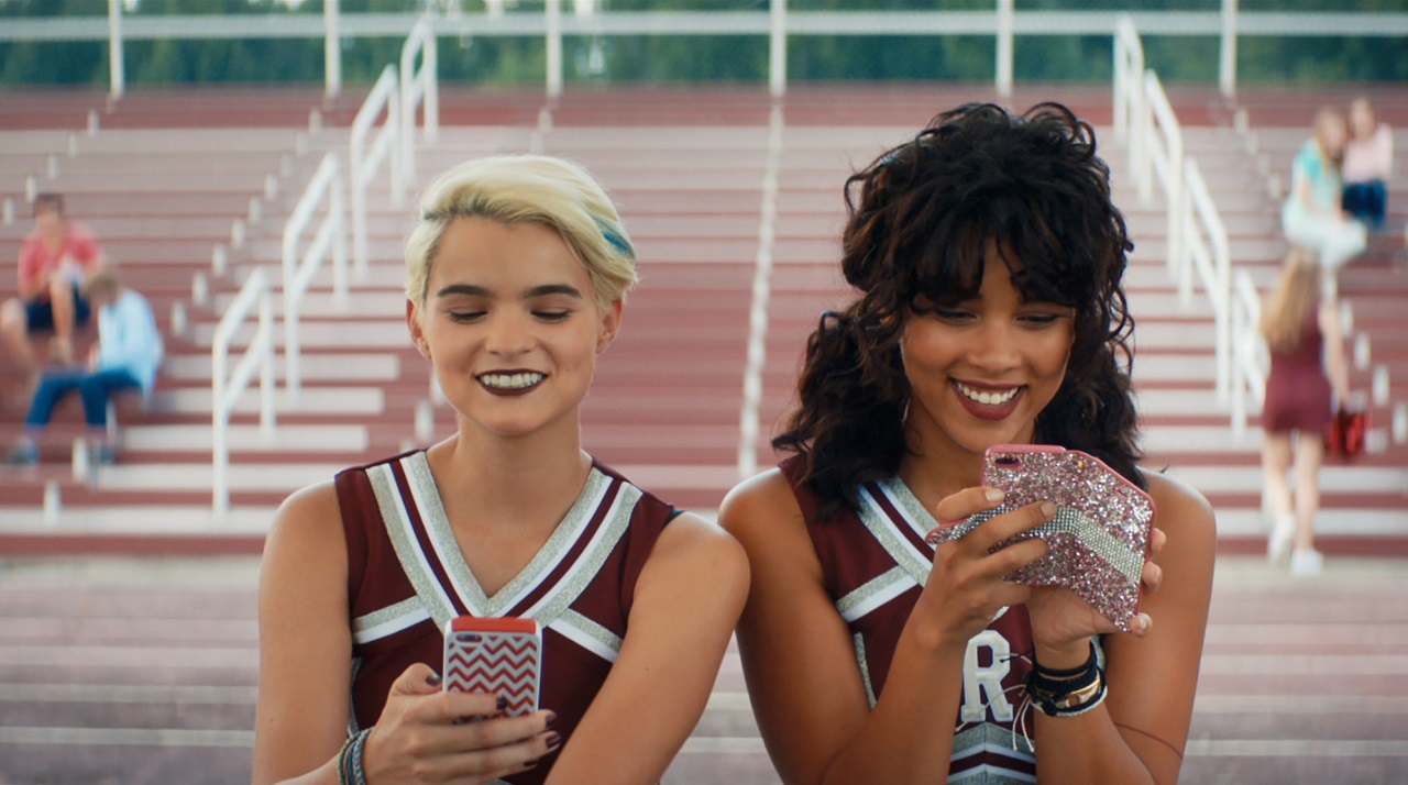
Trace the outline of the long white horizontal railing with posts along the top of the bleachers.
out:
M 1239 38 L 1402 38 L 1408 35 L 1408 13 L 1395 11 L 1240 11 L 1238 0 L 1221 0 L 1221 10 L 1133 11 L 1139 28 L 1149 35 L 1204 37 L 1219 39 L 1218 86 L 1226 96 L 1236 89 L 1236 42 Z M 515 37 L 543 39 L 549 96 L 560 90 L 563 37 L 584 35 L 748 35 L 770 39 L 769 86 L 773 94 L 786 90 L 786 48 L 793 35 L 980 35 L 991 37 L 998 52 L 995 87 L 1002 93 L 1002 75 L 1011 73 L 1014 45 L 1033 37 L 1112 35 L 1112 14 L 1100 10 L 1014 10 L 1004 18 L 1005 0 L 991 10 L 911 11 L 866 8 L 865 0 L 850 0 L 849 10 L 788 11 L 786 0 L 741 3 L 748 10 L 718 11 L 610 11 L 563 15 L 556 1 L 521 3 L 505 13 L 504 0 L 486 0 L 483 11 L 466 11 L 462 3 L 404 3 L 439 6 L 434 17 L 436 35 L 446 38 Z M 100 41 L 108 45 L 111 94 L 124 91 L 125 41 L 183 41 L 231 38 L 318 38 L 324 41 L 327 94 L 342 86 L 342 58 L 337 48 L 348 38 L 397 38 L 406 35 L 424 14 L 339 13 L 337 0 L 317 14 L 166 14 L 131 15 L 122 0 L 108 0 L 108 17 L 11 17 L 0 25 L 0 42 L 10 41 Z M 463 3 L 463 6 L 473 6 Z M 582 8 L 582 3 L 577 8 Z M 553 18 L 556 17 L 556 18 Z M 774 31 L 774 24 L 781 27 Z

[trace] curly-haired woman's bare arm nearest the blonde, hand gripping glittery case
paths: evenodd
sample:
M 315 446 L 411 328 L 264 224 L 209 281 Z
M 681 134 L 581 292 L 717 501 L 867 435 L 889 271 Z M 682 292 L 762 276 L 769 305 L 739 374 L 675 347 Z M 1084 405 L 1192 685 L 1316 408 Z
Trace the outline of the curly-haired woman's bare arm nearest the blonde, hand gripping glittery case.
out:
M 959 498 L 962 497 L 962 498 Z M 980 490 L 955 504 L 993 506 Z M 949 518 L 957 519 L 957 516 Z M 1041 556 L 1028 540 L 987 549 L 1042 521 L 1033 508 L 994 518 L 941 546 L 870 709 L 850 632 L 824 584 L 801 511 L 770 471 L 734 490 L 719 521 L 748 550 L 753 584 L 738 627 L 753 712 L 784 782 L 942 782 L 969 639 L 1029 589 L 1002 581 Z

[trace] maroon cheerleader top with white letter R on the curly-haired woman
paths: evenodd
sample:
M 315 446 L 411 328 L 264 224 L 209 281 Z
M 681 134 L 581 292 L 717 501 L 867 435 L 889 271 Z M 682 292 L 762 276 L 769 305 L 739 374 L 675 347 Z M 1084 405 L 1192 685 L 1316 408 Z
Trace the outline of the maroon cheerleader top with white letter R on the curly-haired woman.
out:
M 780 467 L 807 521 L 826 592 L 850 629 L 856 667 L 873 709 L 884 691 L 900 632 L 934 568 L 934 547 L 924 536 L 938 521 L 898 477 L 862 485 L 859 509 L 818 521 L 821 499 L 801 481 L 801 457 L 788 457 Z M 1018 720 L 1031 653 L 1025 606 L 1004 608 L 969 640 L 949 782 L 1036 781 L 1035 722 Z

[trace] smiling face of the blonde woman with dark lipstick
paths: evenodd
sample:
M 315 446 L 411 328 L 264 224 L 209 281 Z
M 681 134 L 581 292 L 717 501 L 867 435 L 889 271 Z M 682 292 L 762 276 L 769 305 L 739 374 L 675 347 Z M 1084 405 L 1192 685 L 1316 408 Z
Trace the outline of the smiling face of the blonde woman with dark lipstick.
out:
M 515 438 L 576 433 L 621 302 L 597 307 L 586 267 L 546 224 L 455 218 L 407 322 L 463 426 Z

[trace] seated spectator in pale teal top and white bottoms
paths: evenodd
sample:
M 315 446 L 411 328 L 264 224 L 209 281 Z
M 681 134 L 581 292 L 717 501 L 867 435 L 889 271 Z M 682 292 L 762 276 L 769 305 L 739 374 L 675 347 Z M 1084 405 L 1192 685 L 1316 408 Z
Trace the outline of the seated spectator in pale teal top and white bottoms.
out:
M 1281 208 L 1286 241 L 1314 252 L 1328 280 L 1369 245 L 1364 225 L 1350 218 L 1342 204 L 1345 134 L 1345 118 L 1339 113 L 1321 110 L 1315 114 L 1314 135 L 1291 163 L 1291 191 Z

